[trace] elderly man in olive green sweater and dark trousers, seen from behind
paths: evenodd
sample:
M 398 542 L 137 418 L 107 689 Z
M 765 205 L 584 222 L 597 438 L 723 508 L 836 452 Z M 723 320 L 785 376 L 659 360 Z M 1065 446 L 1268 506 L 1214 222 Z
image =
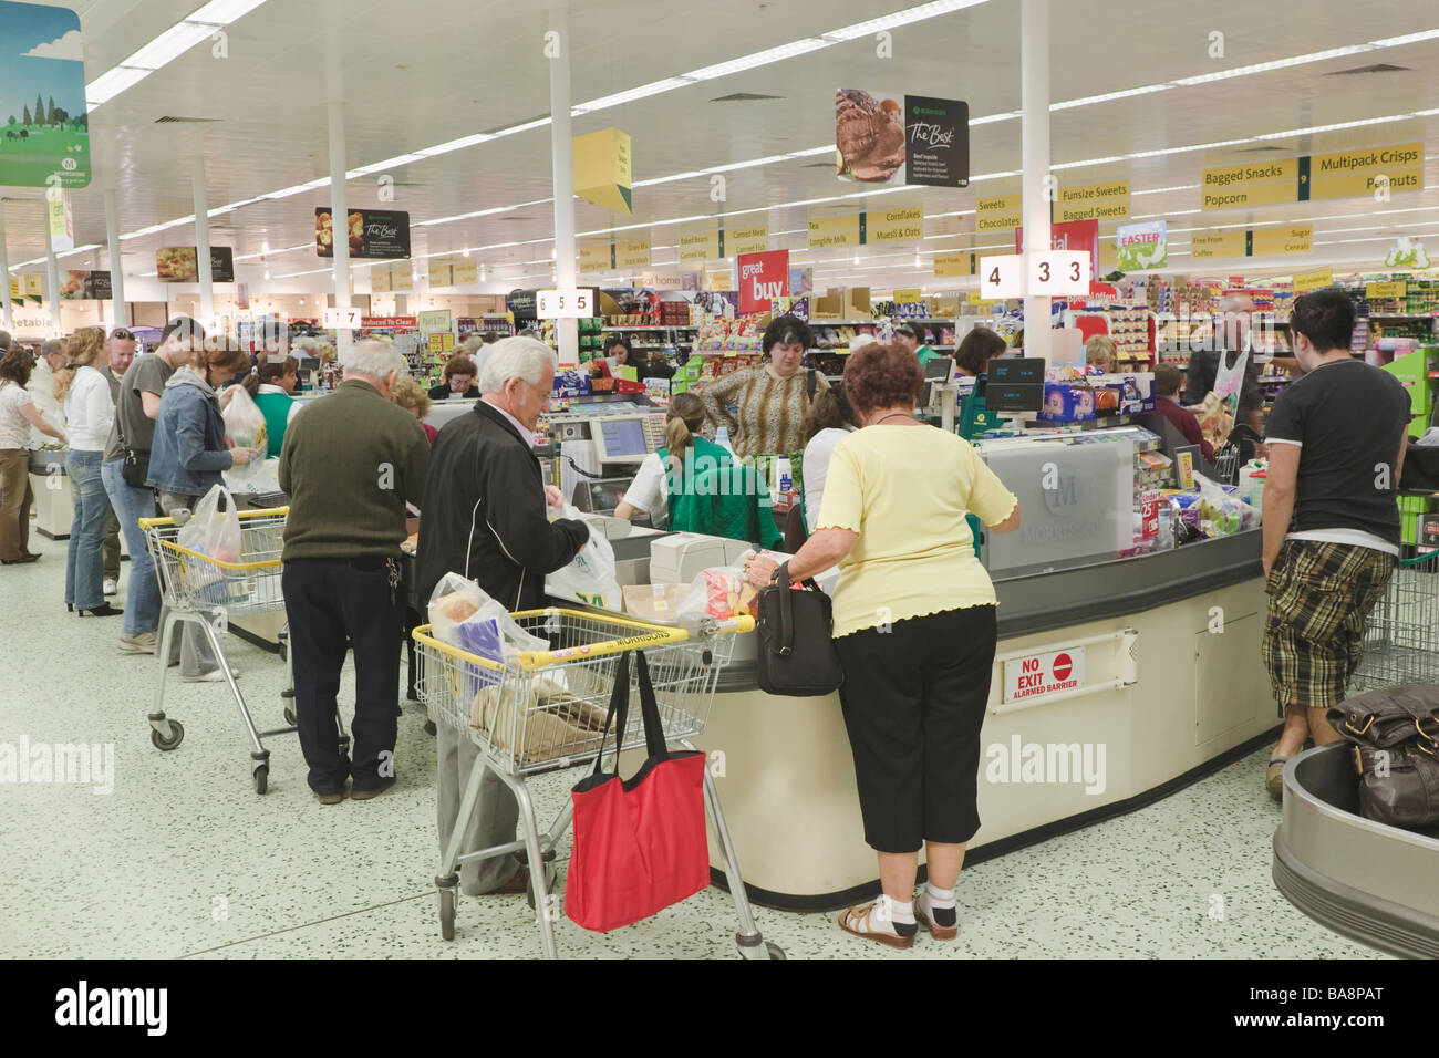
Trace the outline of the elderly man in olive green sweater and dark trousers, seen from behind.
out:
M 419 505 L 430 443 L 389 400 L 404 367 L 393 345 L 363 341 L 345 380 L 295 417 L 279 456 L 289 494 L 281 587 L 289 618 L 299 747 L 322 805 L 368 800 L 394 785 L 400 714 L 400 544 Z M 340 751 L 335 697 L 345 642 L 355 651 L 353 759 Z

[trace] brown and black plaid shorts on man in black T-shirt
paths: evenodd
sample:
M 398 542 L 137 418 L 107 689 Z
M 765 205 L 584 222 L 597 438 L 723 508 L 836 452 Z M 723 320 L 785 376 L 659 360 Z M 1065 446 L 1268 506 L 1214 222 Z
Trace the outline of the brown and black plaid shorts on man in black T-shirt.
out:
M 1269 570 L 1263 664 L 1279 702 L 1333 708 L 1364 651 L 1364 622 L 1394 571 L 1394 557 L 1373 547 L 1285 540 Z

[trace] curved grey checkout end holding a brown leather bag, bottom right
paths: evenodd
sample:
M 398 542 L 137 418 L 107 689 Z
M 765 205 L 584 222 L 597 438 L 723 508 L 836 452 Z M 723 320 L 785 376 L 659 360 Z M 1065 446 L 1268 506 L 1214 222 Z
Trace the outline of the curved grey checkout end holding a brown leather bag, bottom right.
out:
M 1284 769 L 1274 882 L 1301 911 L 1366 944 L 1439 959 L 1439 838 L 1358 815 L 1348 743 Z

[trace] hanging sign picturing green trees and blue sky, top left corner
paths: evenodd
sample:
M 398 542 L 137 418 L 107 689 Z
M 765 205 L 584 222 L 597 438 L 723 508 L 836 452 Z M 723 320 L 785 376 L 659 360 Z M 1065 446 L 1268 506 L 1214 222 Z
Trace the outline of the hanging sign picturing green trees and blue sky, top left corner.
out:
M 89 108 L 79 14 L 0 3 L 0 186 L 88 187 Z

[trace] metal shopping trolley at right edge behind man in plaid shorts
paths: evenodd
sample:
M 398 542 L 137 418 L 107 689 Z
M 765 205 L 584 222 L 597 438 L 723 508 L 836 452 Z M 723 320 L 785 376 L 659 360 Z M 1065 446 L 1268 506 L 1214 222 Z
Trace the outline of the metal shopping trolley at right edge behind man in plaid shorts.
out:
M 1439 684 L 1439 553 L 1400 559 L 1368 615 L 1350 688 Z

